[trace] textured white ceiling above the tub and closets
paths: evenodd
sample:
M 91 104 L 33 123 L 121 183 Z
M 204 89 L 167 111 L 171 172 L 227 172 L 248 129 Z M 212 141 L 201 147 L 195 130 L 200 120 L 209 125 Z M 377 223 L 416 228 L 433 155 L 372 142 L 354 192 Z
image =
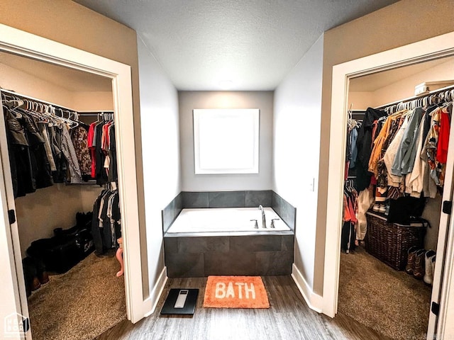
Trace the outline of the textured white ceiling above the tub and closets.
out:
M 396 0 L 75 0 L 137 31 L 179 90 L 273 90 L 325 31 Z

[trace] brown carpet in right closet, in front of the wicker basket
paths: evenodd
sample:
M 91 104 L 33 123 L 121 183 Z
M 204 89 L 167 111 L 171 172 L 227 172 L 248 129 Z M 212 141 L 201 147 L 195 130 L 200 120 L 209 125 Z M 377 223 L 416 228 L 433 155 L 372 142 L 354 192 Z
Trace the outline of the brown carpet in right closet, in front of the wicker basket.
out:
M 341 254 L 338 311 L 392 339 L 426 339 L 431 287 L 357 249 Z

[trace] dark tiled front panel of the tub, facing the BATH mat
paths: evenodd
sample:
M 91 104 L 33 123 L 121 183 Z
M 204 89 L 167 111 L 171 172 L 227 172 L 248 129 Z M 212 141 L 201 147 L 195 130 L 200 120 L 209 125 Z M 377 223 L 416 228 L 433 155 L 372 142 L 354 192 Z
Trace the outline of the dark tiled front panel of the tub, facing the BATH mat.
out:
M 294 232 L 198 232 L 164 235 L 170 278 L 289 275 Z

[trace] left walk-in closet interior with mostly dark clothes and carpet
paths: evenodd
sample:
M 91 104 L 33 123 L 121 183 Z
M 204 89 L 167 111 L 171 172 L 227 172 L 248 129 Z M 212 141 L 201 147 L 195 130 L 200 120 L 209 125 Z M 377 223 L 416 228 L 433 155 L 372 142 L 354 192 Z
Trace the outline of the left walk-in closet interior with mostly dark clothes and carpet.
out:
M 0 52 L 0 87 L 33 339 L 93 339 L 126 319 L 111 79 Z

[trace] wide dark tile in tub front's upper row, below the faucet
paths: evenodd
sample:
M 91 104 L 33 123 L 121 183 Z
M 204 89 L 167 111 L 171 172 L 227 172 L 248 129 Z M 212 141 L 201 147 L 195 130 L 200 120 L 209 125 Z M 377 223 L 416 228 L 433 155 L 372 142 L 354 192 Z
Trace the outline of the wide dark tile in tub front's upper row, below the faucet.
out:
M 232 236 L 230 239 L 231 251 L 278 251 L 281 250 L 279 235 Z

